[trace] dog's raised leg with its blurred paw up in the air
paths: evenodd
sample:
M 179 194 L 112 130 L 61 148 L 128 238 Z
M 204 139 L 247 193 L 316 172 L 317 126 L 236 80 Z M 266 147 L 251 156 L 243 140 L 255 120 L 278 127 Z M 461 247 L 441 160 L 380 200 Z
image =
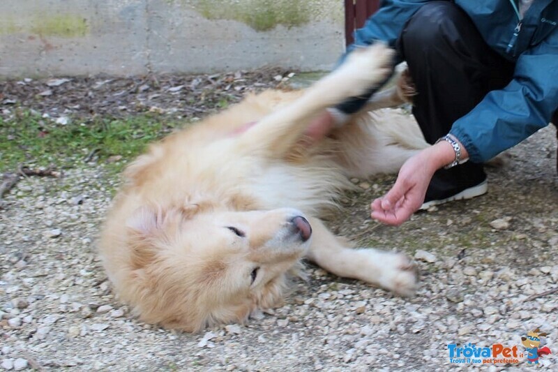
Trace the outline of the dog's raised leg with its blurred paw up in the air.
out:
M 317 113 L 384 81 L 392 59 L 393 51 L 381 44 L 355 50 L 344 64 L 307 89 L 301 98 L 241 134 L 236 140 L 239 151 L 272 158 L 285 156 Z

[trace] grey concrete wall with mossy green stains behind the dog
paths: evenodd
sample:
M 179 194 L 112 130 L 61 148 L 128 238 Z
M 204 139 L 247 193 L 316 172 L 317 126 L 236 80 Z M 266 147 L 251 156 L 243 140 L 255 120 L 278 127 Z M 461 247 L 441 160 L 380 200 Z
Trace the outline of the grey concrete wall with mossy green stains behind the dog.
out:
M 328 69 L 339 0 L 1 0 L 0 76 Z

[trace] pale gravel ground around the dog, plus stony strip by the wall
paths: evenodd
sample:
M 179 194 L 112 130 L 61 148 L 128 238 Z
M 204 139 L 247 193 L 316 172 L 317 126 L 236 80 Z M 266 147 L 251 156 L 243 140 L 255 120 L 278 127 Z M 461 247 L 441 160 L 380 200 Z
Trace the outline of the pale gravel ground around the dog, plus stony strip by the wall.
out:
M 246 80 L 242 84 L 247 88 L 236 92 L 240 95 L 255 83 L 276 85 L 273 73 Z M 223 89 L 226 76 L 234 74 L 213 77 L 218 89 Z M 74 91 L 75 101 L 67 105 L 10 90 L 41 93 L 49 89 L 45 81 L 8 82 L 3 100 L 51 116 L 76 111 L 124 115 L 133 112 L 130 107 L 156 106 L 179 107 L 173 112 L 188 117 L 203 107 L 179 106 L 168 89 L 184 85 L 178 91 L 186 91 L 196 78 L 207 81 L 199 76 L 156 79 L 168 82 L 159 84 L 166 88 L 158 88 L 163 91 L 158 94 L 166 91 L 170 97 L 160 98 L 157 105 L 140 104 L 138 82 L 143 79 L 117 80 L 123 87 L 136 87 L 125 95 L 135 98 L 125 102 L 95 101 L 87 94 L 79 98 L 80 92 L 103 81 L 95 79 L 68 83 L 73 84 L 68 90 Z M 123 90 L 117 87 L 103 94 L 119 89 Z M 4 101 L 4 107 L 11 104 Z M 9 107 L 4 110 L 7 114 Z M 468 370 L 472 365 L 450 364 L 448 344 L 500 343 L 523 352 L 520 337 L 541 327 L 548 333 L 543 343 L 554 352 L 541 364 L 557 370 L 555 136 L 555 128 L 549 127 L 507 151 L 502 167 L 488 169 L 488 195 L 416 214 L 400 228 L 368 218 L 368 203 L 389 188 L 393 177 L 354 180 L 361 191 L 345 195 L 345 208 L 329 224 L 363 246 L 398 248 L 414 255 L 422 283 L 416 297 L 393 297 L 308 265 L 308 281 L 295 283 L 284 306 L 256 316 L 248 325 L 201 334 L 168 332 L 138 322 L 112 295 L 97 258 L 96 237 L 119 179 L 108 176 L 104 164 L 93 159 L 66 170 L 59 179 L 22 179 L 0 210 L 0 366 L 77 371 Z M 476 367 L 534 368 L 522 358 L 519 364 Z

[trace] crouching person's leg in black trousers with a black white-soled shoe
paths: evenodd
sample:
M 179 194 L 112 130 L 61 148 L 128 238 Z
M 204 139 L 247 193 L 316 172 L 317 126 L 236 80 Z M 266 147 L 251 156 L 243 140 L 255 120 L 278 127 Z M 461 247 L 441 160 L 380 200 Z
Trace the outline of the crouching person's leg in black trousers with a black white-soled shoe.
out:
M 513 75 L 513 64 L 490 49 L 469 16 L 450 1 L 433 1 L 419 9 L 400 35 L 398 52 L 416 87 L 414 117 L 430 144 Z M 481 195 L 485 179 L 482 164 L 439 170 L 425 201 Z

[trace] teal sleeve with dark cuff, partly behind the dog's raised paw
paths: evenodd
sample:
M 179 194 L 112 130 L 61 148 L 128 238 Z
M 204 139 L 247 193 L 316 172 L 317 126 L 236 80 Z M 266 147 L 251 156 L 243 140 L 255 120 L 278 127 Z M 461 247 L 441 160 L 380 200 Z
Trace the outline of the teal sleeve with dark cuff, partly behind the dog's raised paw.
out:
M 375 41 L 382 41 L 390 47 L 395 47 L 395 42 L 399 38 L 401 31 L 407 20 L 420 8 L 424 3 L 432 0 L 384 0 L 381 3 L 379 10 L 372 15 L 364 27 L 358 29 L 354 33 L 354 43 L 347 47 L 347 52 L 339 59 L 337 66 L 345 61 L 347 55 L 352 52 L 356 47 L 363 47 L 365 45 L 372 45 Z M 401 62 L 401 58 L 397 56 L 394 61 L 395 64 Z M 359 97 L 348 98 L 346 101 L 335 106 L 345 114 L 353 114 L 361 110 L 366 104 L 368 99 L 375 94 L 387 81 L 379 84 L 378 87 L 372 87 L 365 94 Z

